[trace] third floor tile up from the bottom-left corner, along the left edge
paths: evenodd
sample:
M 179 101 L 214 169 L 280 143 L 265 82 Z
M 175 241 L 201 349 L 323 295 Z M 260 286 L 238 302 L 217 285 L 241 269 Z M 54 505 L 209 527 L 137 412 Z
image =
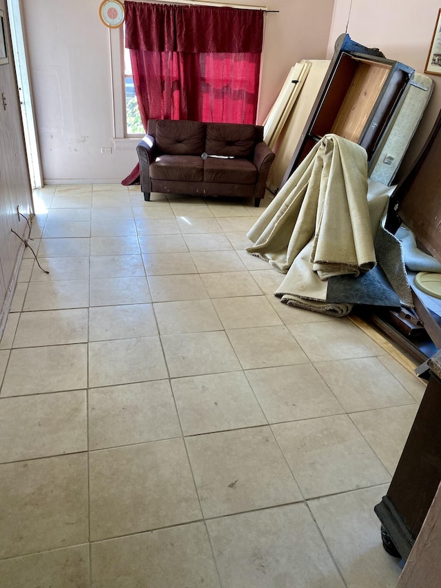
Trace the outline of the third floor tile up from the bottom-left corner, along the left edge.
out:
M 0 463 L 85 452 L 85 390 L 0 399 Z

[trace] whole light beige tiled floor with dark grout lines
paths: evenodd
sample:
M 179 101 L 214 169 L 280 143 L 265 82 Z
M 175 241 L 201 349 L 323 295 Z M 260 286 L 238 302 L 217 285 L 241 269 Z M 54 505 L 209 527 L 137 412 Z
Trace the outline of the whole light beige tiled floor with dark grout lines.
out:
M 267 203 L 59 185 L 0 343 L 0 588 L 393 588 L 424 384 L 245 252 Z

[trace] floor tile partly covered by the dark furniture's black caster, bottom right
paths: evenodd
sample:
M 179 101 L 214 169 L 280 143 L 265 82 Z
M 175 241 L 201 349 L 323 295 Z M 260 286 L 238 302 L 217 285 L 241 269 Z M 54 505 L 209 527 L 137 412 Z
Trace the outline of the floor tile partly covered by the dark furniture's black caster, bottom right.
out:
M 399 560 L 384 551 L 373 511 L 386 492 L 387 486 L 378 486 L 309 502 L 348 586 L 396 587 Z

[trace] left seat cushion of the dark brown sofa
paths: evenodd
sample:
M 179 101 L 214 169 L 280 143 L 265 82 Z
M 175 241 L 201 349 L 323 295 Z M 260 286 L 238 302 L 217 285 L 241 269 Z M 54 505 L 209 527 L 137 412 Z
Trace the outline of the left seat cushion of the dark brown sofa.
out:
M 154 180 L 203 181 L 203 159 L 200 155 L 161 155 L 150 164 Z

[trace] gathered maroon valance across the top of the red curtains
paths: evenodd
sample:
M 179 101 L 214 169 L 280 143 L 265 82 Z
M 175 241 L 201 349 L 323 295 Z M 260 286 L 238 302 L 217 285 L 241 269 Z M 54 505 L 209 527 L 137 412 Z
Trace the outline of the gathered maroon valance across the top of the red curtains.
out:
M 125 46 L 129 49 L 185 53 L 262 51 L 261 10 L 126 0 L 125 14 Z

